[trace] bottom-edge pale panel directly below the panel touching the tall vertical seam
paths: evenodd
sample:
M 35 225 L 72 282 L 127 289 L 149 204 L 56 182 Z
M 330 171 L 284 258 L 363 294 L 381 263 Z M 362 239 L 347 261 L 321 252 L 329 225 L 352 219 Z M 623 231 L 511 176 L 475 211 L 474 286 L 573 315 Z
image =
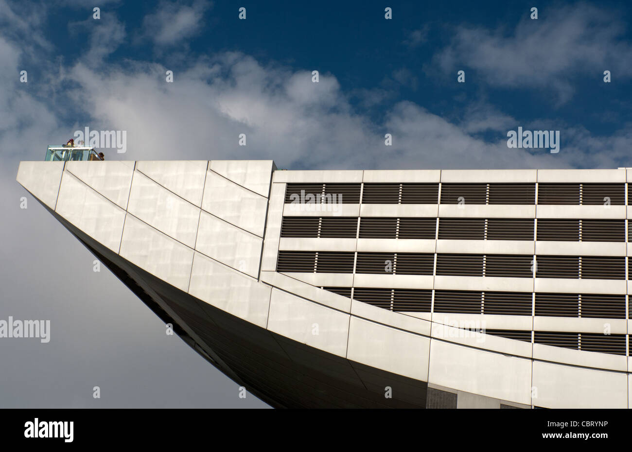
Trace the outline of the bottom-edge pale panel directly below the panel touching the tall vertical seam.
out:
M 271 288 L 198 252 L 193 257 L 190 295 L 265 328 Z

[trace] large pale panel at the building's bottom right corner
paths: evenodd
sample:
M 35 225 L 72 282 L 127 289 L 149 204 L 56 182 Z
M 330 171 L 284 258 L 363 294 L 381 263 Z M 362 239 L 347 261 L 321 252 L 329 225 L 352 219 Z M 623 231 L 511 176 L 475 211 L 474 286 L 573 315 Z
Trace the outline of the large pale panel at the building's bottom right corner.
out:
M 533 362 L 533 405 L 545 408 L 628 408 L 626 374 Z

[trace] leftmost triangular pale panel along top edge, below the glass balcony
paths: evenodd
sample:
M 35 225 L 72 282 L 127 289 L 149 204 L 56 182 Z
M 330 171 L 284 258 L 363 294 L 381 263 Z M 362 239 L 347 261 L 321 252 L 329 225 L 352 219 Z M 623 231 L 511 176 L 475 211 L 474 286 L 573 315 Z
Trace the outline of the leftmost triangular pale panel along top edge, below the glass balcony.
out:
M 127 209 L 134 161 L 66 162 L 66 171 L 94 188 L 119 207 Z

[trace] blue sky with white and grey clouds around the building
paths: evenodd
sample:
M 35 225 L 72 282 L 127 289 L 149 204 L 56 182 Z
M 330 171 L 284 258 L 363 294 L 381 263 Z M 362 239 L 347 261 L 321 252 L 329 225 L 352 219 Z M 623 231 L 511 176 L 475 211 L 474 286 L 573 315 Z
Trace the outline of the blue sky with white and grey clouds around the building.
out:
M 107 159 L 632 166 L 628 2 L 434 3 L 0 0 L 0 319 L 51 321 L 50 343 L 0 339 L 0 407 L 266 406 L 93 272 L 16 183 L 18 162 L 75 130 L 125 130 L 127 152 Z M 560 152 L 507 148 L 518 126 L 559 130 Z

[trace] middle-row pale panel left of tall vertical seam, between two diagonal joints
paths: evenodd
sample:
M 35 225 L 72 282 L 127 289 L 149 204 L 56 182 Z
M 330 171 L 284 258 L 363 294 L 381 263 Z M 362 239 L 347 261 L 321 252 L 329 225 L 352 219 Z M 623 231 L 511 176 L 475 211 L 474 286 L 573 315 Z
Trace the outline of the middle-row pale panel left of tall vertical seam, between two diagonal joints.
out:
M 263 239 L 202 211 L 195 250 L 257 278 Z

